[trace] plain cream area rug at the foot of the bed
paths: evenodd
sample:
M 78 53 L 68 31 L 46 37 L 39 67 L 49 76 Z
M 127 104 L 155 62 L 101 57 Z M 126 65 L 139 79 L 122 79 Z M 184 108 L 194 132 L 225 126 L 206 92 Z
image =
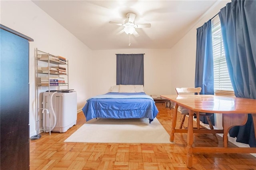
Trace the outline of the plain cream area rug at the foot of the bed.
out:
M 170 143 L 170 135 L 155 118 L 92 119 L 64 142 L 82 143 Z

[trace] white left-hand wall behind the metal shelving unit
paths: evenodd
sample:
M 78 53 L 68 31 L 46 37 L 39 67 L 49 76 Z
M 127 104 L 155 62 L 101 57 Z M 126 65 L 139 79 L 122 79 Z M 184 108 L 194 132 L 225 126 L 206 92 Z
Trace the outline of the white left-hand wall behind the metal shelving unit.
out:
M 88 98 L 87 65 L 92 50 L 31 1 L 1 1 L 0 8 L 2 25 L 34 39 L 34 42 L 30 42 L 29 58 L 29 112 L 30 136 L 32 136 L 36 134 L 35 48 L 61 55 L 69 60 L 69 88 L 77 91 L 78 109 L 82 108 Z M 45 87 L 40 89 L 40 92 L 46 90 Z

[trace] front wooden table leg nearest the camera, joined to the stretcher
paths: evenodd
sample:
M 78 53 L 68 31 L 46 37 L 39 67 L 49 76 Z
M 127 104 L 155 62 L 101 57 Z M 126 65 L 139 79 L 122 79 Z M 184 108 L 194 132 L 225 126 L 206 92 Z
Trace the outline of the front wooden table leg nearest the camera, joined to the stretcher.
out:
M 188 138 L 187 138 L 187 167 L 192 168 L 192 153 L 193 153 L 193 142 L 194 142 L 194 136 L 193 136 L 193 116 L 194 111 L 189 111 L 189 117 L 188 117 Z

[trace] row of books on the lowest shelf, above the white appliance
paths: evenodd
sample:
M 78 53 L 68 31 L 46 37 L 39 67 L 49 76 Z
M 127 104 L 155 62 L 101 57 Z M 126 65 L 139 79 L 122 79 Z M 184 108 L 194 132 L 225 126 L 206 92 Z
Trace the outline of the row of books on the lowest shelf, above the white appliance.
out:
M 50 79 L 47 76 L 38 77 L 38 85 L 48 86 L 49 83 L 50 86 L 66 85 L 64 77 L 50 77 Z

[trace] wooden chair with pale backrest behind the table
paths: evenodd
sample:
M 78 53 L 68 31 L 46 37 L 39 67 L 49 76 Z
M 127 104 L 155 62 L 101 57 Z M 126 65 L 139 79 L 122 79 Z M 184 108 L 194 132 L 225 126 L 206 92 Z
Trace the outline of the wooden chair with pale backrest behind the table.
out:
M 195 93 L 197 93 L 198 95 L 200 94 L 201 92 L 201 87 L 196 87 L 196 88 L 176 88 L 176 92 L 178 95 L 182 95 L 182 94 L 185 94 L 185 95 L 194 95 Z M 176 109 L 177 110 L 177 109 Z M 181 121 L 180 121 L 180 129 L 182 127 L 184 127 L 185 129 L 187 127 L 184 126 L 184 121 L 185 121 L 185 118 L 186 118 L 186 115 L 189 115 L 188 114 L 188 110 L 187 109 L 184 109 L 182 107 L 180 107 L 180 110 L 181 110 L 181 114 L 183 115 Z M 177 114 L 177 113 L 176 113 Z M 196 128 L 197 129 L 200 129 L 200 117 L 204 116 L 206 117 L 208 123 L 209 123 L 209 127 L 210 129 L 214 129 L 213 126 L 212 126 L 212 122 L 210 120 L 210 117 L 214 115 L 214 113 L 201 113 L 201 112 L 195 112 L 194 115 L 196 116 Z M 214 135 L 214 140 L 216 143 L 218 143 L 218 138 L 216 136 L 216 133 L 215 132 L 212 132 L 212 134 Z

